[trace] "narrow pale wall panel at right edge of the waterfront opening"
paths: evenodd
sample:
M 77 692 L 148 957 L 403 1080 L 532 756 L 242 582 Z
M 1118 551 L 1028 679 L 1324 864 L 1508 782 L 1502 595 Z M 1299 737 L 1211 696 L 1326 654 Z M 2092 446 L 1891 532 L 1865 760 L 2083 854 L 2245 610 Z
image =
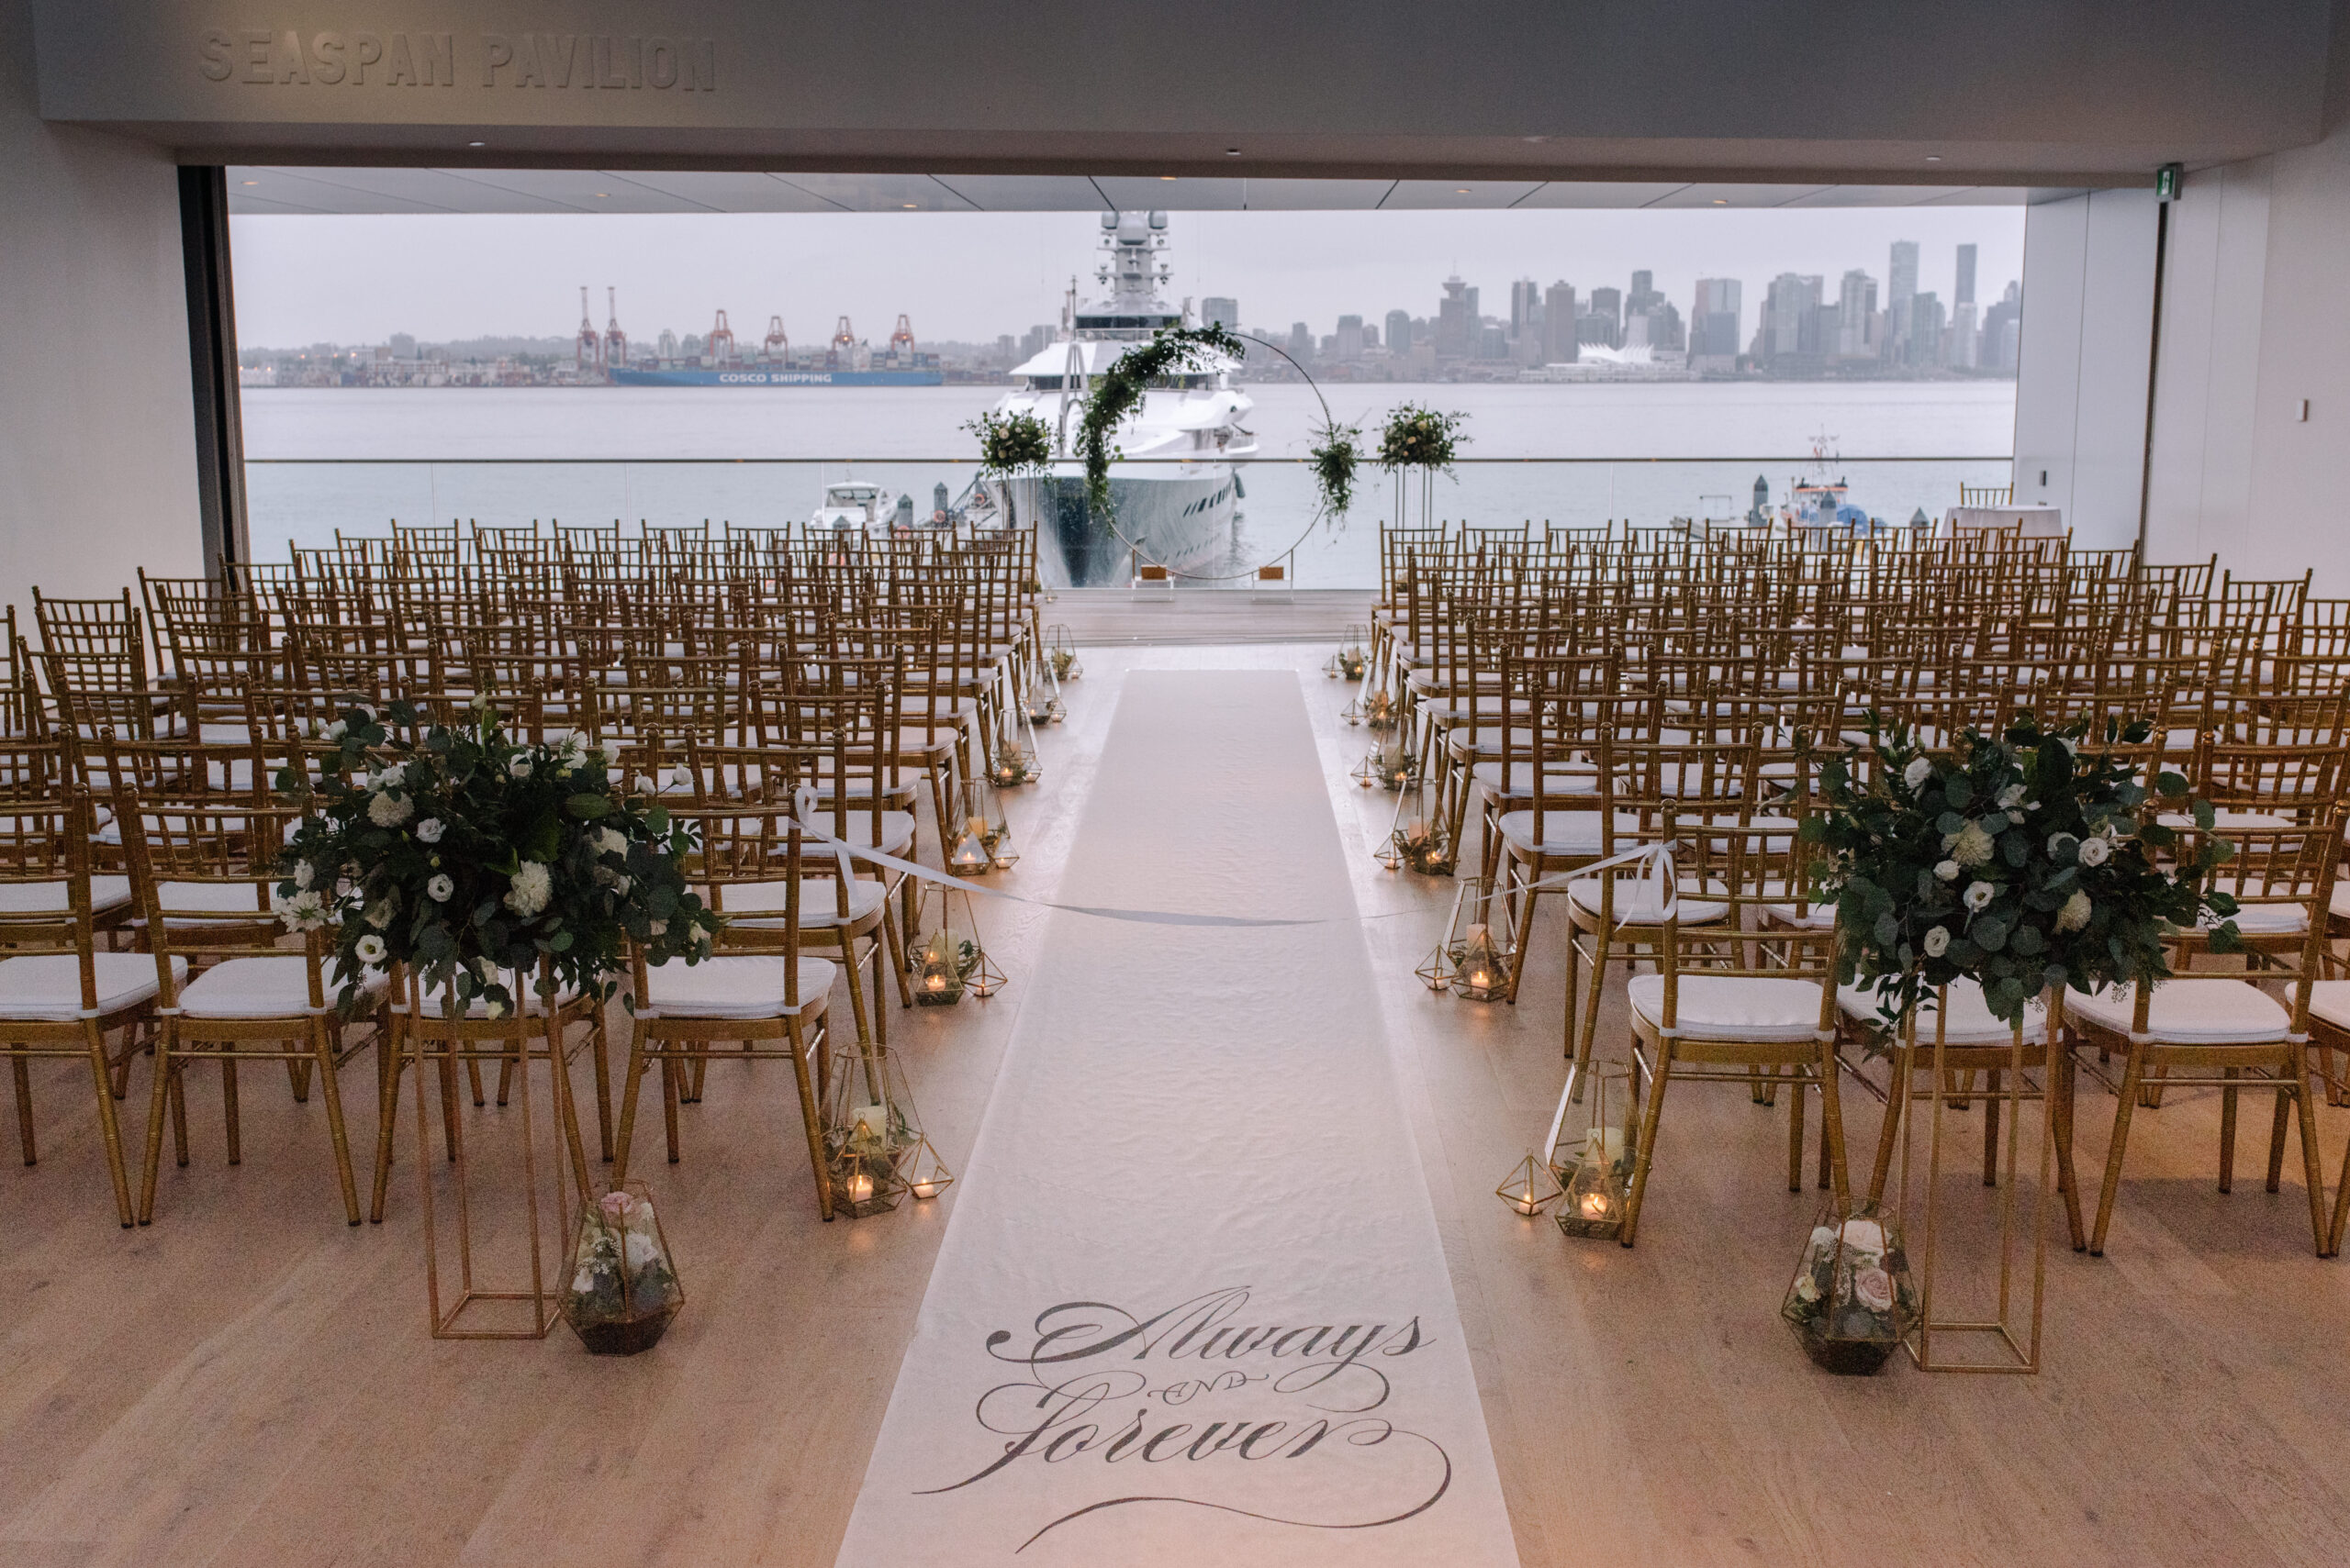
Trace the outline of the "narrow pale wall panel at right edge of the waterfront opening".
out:
M 2153 322 L 2150 190 L 2092 190 L 2026 214 L 2016 502 L 2063 507 L 2087 549 L 2138 538 Z

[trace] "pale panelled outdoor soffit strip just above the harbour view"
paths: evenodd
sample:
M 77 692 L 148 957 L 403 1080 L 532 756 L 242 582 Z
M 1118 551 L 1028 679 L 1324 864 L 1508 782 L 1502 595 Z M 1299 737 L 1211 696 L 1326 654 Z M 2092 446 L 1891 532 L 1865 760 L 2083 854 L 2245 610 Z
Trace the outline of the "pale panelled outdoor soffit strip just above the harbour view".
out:
M 2021 207 L 2023 185 L 1250 181 L 1137 174 L 759 174 L 230 167 L 237 214 L 446 211 L 1370 211 L 1497 207 Z

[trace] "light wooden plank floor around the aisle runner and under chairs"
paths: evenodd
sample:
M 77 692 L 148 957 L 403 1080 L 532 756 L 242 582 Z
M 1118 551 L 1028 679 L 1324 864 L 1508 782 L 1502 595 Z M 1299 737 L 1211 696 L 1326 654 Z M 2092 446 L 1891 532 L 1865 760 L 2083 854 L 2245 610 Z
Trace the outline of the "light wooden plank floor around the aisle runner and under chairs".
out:
M 2284 1192 L 2261 1192 L 2258 1103 L 2228 1197 L 2214 1096 L 2138 1117 L 2110 1256 L 2049 1261 L 2042 1378 L 1817 1373 L 1777 1322 L 1817 1197 L 1784 1190 L 1784 1110 L 1739 1089 L 1676 1091 L 1638 1249 L 1511 1216 L 1492 1185 L 1539 1138 L 1560 1077 L 1558 930 L 1537 927 L 1518 1007 L 1417 986 L 1450 885 L 1370 861 L 1391 798 L 1344 779 L 1363 735 L 1337 723 L 1344 688 L 1311 674 L 1325 655 L 1088 650 L 1069 723 L 1041 737 L 1046 779 L 1013 798 L 1006 885 L 1053 890 L 1123 669 L 1309 674 L 1361 906 L 1417 911 L 1365 930 L 1525 1563 L 2350 1561 L 2350 1272 L 2310 1256 L 2296 1162 Z M 982 920 L 1010 988 L 891 1014 L 949 1162 L 971 1148 L 1043 925 L 1008 904 Z M 1603 1030 L 1622 1038 L 1617 1012 Z M 352 1230 L 317 1094 L 296 1106 L 275 1068 L 247 1068 L 230 1169 L 202 1073 L 195 1160 L 164 1164 L 155 1225 L 125 1232 L 87 1075 L 42 1063 L 33 1080 L 42 1160 L 0 1171 L 0 1563 L 832 1561 L 954 1197 L 818 1223 L 780 1066 L 712 1066 L 674 1167 L 649 1120 L 637 1171 L 689 1305 L 627 1361 L 564 1329 L 425 1336 L 407 1122 L 390 1216 Z M 364 1160 L 369 1061 L 341 1082 Z M 585 1063 L 576 1082 L 585 1094 Z M 1878 1106 L 1845 1099 L 1866 1171 Z M 2084 1091 L 2092 1183 L 2110 1113 Z M 510 1141 L 515 1110 L 468 1117 L 491 1157 Z M 127 1136 L 143 1122 L 141 1063 Z M 2331 1181 L 2350 1113 L 2322 1129 Z M 1960 1136 L 1972 1157 L 1972 1120 Z M 1342 1171 L 1316 1202 L 1347 1202 Z

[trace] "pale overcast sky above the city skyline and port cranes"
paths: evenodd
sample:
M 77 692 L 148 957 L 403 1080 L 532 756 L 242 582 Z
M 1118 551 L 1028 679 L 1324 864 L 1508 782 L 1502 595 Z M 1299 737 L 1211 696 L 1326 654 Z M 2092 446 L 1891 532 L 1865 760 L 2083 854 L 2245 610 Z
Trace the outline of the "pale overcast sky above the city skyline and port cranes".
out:
M 724 307 L 757 343 L 771 315 L 794 345 L 851 317 L 881 343 L 900 312 L 919 340 L 992 340 L 1055 322 L 1072 272 L 1090 289 L 1093 214 L 691 214 L 691 216 L 244 216 L 233 221 L 237 338 L 249 347 L 569 336 L 588 284 L 597 326 L 606 284 L 620 326 L 653 338 L 707 331 Z M 1657 275 L 1683 315 L 1699 277 L 1744 282 L 1753 331 L 1762 286 L 1819 272 L 1828 298 L 1847 268 L 1885 291 L 1894 239 L 1920 242 L 1918 286 L 1953 300 L 1955 249 L 1979 246 L 1976 300 L 2023 272 L 2021 207 L 1772 211 L 1335 211 L 1175 214 L 1175 293 L 1241 300 L 1248 326 L 1316 333 L 1342 312 L 1436 315 L 1443 279 L 1509 315 L 1509 284 L 1565 279 L 1624 289 Z

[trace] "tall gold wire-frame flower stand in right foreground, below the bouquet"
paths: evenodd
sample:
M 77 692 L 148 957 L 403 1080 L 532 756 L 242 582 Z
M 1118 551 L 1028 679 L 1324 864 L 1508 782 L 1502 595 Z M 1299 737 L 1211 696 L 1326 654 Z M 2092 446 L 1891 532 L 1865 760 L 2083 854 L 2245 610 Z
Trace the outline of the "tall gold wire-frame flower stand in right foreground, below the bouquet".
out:
M 1918 1314 L 1904 1340 L 1911 1361 L 1920 1371 L 1936 1373 L 2037 1373 L 2040 1326 L 2047 1296 L 2049 1263 L 2049 1199 L 2054 1195 L 2056 1122 L 2066 1110 L 2061 1089 L 2063 1073 L 2063 993 L 2049 993 L 2044 1047 L 2026 1045 L 2019 1026 L 2007 1045 L 1953 1047 L 1943 1038 L 1948 998 L 1932 1014 L 1932 1040 L 1920 1042 L 1918 1014 L 1901 1023 L 1901 1038 L 1892 1056 L 1892 1080 L 1887 1082 L 1885 1141 L 1878 1150 L 1878 1171 L 1871 1183 L 1871 1202 L 1885 1185 L 1892 1160 L 1892 1141 L 1899 1122 L 1901 1171 L 1894 1211 L 1913 1242 L 1922 1237 L 1922 1251 L 1911 1253 L 1918 1270 Z M 2028 1068 L 2042 1070 L 2040 1087 L 2028 1080 Z M 1918 1089 L 1918 1075 L 1927 1075 L 1927 1087 Z M 1990 1075 L 1990 1084 L 1974 1089 L 1976 1073 Z M 1969 1080 L 1965 1087 L 1960 1080 Z M 1915 1106 L 1925 1099 L 1927 1115 L 1925 1195 L 1915 1197 L 1913 1148 Z M 2023 1214 L 2016 1195 L 2016 1157 L 2023 1145 L 2021 1113 L 2028 1101 L 2040 1101 L 2040 1181 Z M 1979 1110 L 1986 1129 L 1983 1185 L 1995 1188 L 1993 1209 L 1998 1232 L 1990 1242 L 1988 1261 L 1974 1246 L 1974 1237 L 1958 1235 L 1953 1195 L 1943 1190 L 1943 1145 L 1955 1141 L 1955 1117 L 1960 1106 Z M 2005 1160 L 1995 1162 L 1988 1138 L 1998 1136 L 2005 1120 Z M 1911 1204 L 1925 1209 L 1925 1225 L 1911 1225 Z M 1986 1282 L 1988 1275 L 1988 1282 Z M 1986 1289 L 1988 1286 L 1988 1289 Z M 1988 1298 L 1988 1314 L 1962 1317 L 1950 1307 L 1953 1296 L 1969 1300 Z

